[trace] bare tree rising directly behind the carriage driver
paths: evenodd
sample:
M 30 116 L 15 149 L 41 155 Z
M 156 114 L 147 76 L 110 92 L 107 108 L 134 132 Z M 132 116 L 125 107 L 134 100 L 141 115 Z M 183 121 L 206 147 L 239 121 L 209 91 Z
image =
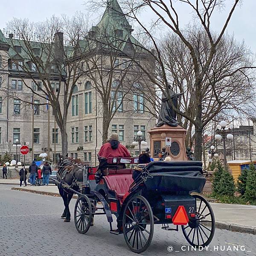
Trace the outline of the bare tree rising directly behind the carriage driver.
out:
M 131 32 L 125 15 L 108 6 L 86 41 L 90 51 L 83 55 L 84 74 L 99 95 L 97 108 L 103 119 L 102 143 L 106 143 L 110 122 L 116 114 L 137 111 L 131 104 L 136 102 L 134 93 L 141 93 L 145 88 L 141 80 L 148 80 L 136 64 L 148 58 L 148 54 Z M 143 102 L 143 108 L 144 105 L 148 108 L 148 104 Z

